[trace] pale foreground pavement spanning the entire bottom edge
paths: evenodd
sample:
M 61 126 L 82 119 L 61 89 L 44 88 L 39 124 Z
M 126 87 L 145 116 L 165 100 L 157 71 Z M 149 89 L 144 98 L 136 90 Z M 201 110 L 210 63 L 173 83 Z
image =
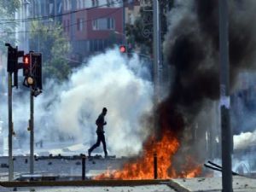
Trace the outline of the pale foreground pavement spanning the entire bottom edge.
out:
M 2 182 L 10 191 L 47 191 L 47 192 L 221 192 L 221 177 L 177 178 L 172 180 L 102 180 L 102 181 L 42 181 L 42 182 Z M 255 192 L 256 179 L 233 177 L 234 192 Z

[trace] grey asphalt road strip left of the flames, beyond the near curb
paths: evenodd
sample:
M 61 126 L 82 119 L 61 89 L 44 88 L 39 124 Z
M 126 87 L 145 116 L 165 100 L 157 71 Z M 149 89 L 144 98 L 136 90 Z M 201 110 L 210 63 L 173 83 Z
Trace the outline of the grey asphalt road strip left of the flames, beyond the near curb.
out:
M 91 160 L 85 160 L 85 177 L 93 177 L 106 170 L 119 169 L 126 161 L 125 158 L 103 159 L 101 156 Z M 0 181 L 8 180 L 9 173 L 8 157 L 0 157 Z M 27 156 L 16 156 L 14 159 L 14 177 L 30 172 L 30 158 Z M 70 157 L 38 157 L 34 160 L 34 173 L 55 176 L 82 177 L 82 160 L 78 156 Z

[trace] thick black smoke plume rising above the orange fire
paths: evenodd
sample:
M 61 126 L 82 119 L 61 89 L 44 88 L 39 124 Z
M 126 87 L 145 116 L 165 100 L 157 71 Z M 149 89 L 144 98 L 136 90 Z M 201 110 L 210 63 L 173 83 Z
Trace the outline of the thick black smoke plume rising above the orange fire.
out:
M 255 68 L 256 26 L 253 20 L 256 18 L 256 2 L 232 0 L 228 3 L 232 91 L 237 74 Z M 160 128 L 161 132 L 171 129 L 182 138 L 189 127 L 190 132 L 185 134 L 193 137 L 198 115 L 206 109 L 207 103 L 218 101 L 220 95 L 218 1 L 177 0 L 168 18 L 170 25 L 164 42 L 164 56 L 168 65 L 174 68 L 175 75 L 170 95 L 157 109 Z M 196 139 L 203 137 L 206 129 L 199 126 Z

